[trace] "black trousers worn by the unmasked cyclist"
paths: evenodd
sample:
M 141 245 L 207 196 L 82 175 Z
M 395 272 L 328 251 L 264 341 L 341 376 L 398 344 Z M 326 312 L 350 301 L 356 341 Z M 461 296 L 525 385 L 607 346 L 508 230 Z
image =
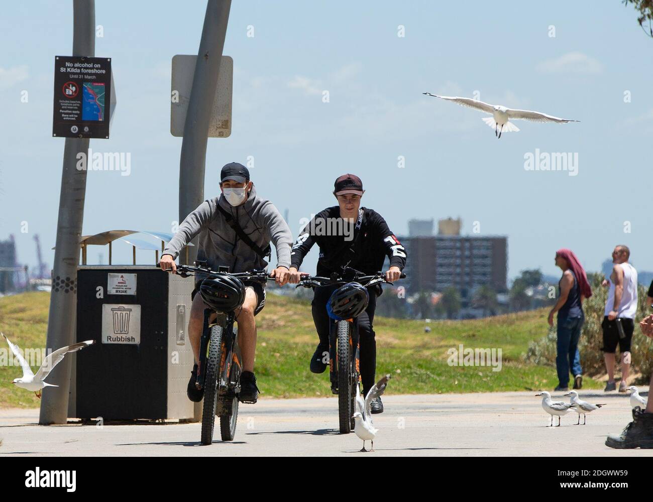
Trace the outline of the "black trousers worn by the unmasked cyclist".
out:
M 320 337 L 320 345 L 328 351 L 328 336 L 330 325 L 334 322 L 327 313 L 327 302 L 331 293 L 337 286 L 323 286 L 315 288 L 315 296 L 311 303 L 313 310 L 313 322 Z M 358 339 L 360 344 L 360 379 L 363 383 L 363 396 L 374 386 L 376 373 L 376 340 L 374 338 L 374 311 L 376 309 L 376 292 L 368 289 L 370 303 L 365 311 L 357 318 Z

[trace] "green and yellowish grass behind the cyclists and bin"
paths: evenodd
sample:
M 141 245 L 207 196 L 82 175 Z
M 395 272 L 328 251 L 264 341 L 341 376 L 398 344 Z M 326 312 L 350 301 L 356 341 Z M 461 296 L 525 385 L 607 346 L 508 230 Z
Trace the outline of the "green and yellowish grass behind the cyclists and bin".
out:
M 19 347 L 44 347 L 49 300 L 46 292 L 0 298 L 0 330 Z M 521 357 L 530 341 L 547 334 L 544 309 L 471 321 L 434 321 L 428 324 L 430 333 L 424 333 L 426 325 L 374 319 L 377 375 L 392 375 L 388 394 L 550 390 L 558 383 L 555 368 L 525 364 Z M 257 326 L 256 373 L 263 396 L 331 395 L 328 370 L 323 375 L 308 371 L 317 344 L 310 302 L 270 294 Z M 502 370 L 449 366 L 447 350 L 461 343 L 471 349 L 501 348 Z M 33 393 L 10 383 L 20 374 L 16 366 L 0 366 L 0 407 L 39 405 Z M 584 387 L 601 388 L 601 383 L 586 378 Z

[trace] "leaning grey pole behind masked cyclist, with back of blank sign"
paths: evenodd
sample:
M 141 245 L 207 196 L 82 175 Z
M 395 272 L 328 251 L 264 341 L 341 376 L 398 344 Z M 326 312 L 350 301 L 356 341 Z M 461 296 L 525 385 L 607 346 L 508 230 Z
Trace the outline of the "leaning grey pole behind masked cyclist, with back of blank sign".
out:
M 231 0 L 208 0 L 206 4 L 193 87 L 183 125 L 182 155 L 179 163 L 180 223 L 204 200 L 204 163 L 208 126 L 217 89 L 217 74 L 220 71 L 220 61 L 225 47 L 230 9 Z M 195 247 L 187 247 L 188 263 L 193 263 L 197 257 L 197 238 L 193 243 Z M 183 251 L 179 262 L 187 263 Z

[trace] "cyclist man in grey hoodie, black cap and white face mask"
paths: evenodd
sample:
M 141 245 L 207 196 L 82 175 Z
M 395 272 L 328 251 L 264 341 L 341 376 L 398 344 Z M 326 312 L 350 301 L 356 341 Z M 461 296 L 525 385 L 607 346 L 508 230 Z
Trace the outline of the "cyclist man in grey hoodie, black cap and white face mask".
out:
M 272 270 L 270 277 L 274 277 L 281 286 L 287 283 L 293 237 L 277 208 L 269 200 L 257 196 L 254 185 L 249 180 L 249 170 L 242 164 L 232 162 L 222 168 L 220 189 L 222 195 L 205 200 L 183 220 L 161 255 L 161 269 L 176 272 L 174 260 L 183 247 L 199 234 L 197 260 L 206 261 L 210 270 L 217 270 L 219 266 L 228 266 L 232 273 L 260 270 L 267 266 L 264 258 L 270 257 L 272 241 L 277 254 L 277 268 Z M 195 275 L 193 306 L 188 323 L 195 366 L 187 394 L 189 400 L 195 402 L 201 401 L 204 396 L 204 389 L 196 388 L 195 379 L 206 308 L 202 296 L 196 293 L 205 277 L 204 274 Z M 244 281 L 244 285 L 245 300 L 242 307 L 235 311 L 243 365 L 238 398 L 240 401 L 255 403 L 259 389 L 254 375 L 254 316 L 263 310 L 265 289 L 258 282 Z

